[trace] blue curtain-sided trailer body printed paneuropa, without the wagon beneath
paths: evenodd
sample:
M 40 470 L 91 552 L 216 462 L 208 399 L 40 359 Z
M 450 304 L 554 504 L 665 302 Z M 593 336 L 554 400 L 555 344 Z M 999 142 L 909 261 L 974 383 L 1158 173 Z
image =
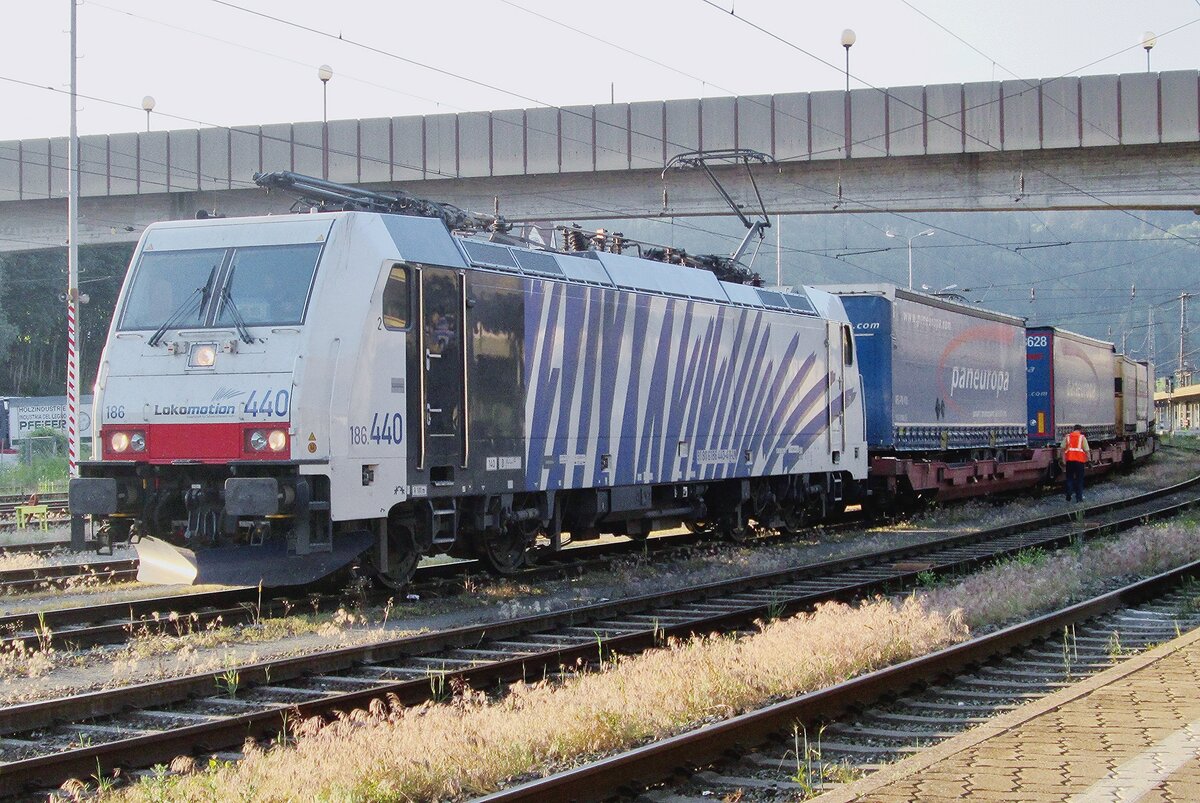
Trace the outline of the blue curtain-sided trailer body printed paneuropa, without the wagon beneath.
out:
M 889 284 L 841 296 L 872 454 L 1026 445 L 1025 320 Z

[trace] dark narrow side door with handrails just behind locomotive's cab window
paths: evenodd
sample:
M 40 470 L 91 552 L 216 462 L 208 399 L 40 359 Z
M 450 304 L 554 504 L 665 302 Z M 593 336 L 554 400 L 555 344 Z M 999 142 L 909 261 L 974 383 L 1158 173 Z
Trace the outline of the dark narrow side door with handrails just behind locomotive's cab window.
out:
M 448 268 L 420 269 L 418 342 L 421 406 L 419 465 L 433 483 L 467 465 L 467 379 L 463 319 L 467 276 Z

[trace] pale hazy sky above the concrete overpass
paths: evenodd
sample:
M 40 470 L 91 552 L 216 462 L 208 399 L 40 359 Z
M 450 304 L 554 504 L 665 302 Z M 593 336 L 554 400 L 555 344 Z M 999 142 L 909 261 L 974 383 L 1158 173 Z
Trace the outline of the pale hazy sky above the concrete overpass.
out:
M 0 8 L 0 140 L 66 136 L 70 0 Z M 80 0 L 79 131 L 838 89 L 844 28 L 851 86 L 1192 70 L 1200 0 Z

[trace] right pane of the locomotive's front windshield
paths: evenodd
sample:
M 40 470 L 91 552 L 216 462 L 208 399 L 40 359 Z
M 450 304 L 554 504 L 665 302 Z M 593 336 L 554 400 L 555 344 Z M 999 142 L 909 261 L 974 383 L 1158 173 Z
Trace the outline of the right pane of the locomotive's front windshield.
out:
M 272 245 L 234 251 L 217 325 L 234 324 L 229 299 L 247 326 L 298 324 L 304 320 L 308 287 L 320 245 Z

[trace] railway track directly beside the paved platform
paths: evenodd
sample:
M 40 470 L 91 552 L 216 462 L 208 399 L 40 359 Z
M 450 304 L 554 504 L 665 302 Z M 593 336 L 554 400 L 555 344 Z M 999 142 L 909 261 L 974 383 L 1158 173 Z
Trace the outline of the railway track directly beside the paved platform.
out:
M 1198 575 L 1200 562 L 1190 563 L 1033 621 L 480 801 L 805 798 L 836 786 L 834 779 L 852 780 L 1108 669 L 1114 664 L 1114 643 L 1122 653 L 1136 652 L 1200 627 L 1194 607 L 1181 612 L 1181 603 L 1193 599 L 1194 592 L 1178 592 L 1182 582 Z M 896 693 L 902 694 L 895 699 Z M 731 760 L 731 754 L 737 757 Z

